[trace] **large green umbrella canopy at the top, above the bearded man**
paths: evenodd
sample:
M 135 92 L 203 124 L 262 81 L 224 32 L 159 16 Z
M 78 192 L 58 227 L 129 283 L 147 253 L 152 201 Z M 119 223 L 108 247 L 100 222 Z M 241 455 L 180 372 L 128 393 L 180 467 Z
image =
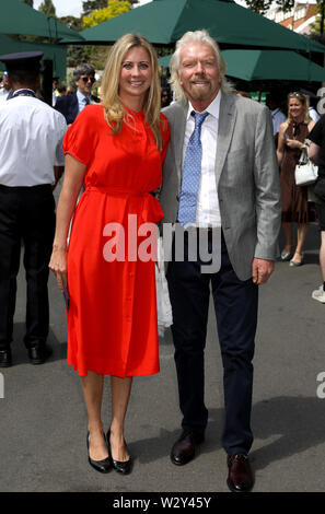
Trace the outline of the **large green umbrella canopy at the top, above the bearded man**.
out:
M 140 33 L 153 44 L 173 44 L 187 31 L 207 28 L 220 44 L 324 51 L 324 46 L 266 17 L 222 0 L 153 0 L 80 34 L 88 44 L 113 43 Z M 77 43 L 77 42 L 76 42 Z

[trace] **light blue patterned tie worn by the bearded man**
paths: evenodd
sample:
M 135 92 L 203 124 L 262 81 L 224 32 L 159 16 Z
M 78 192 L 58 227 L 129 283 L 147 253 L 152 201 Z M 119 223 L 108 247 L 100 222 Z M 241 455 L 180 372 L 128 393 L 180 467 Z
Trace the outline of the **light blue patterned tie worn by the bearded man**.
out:
M 178 221 L 183 226 L 194 223 L 196 202 L 201 176 L 201 126 L 209 113 L 190 113 L 195 117 L 195 128 L 185 152 L 184 172 L 178 208 Z

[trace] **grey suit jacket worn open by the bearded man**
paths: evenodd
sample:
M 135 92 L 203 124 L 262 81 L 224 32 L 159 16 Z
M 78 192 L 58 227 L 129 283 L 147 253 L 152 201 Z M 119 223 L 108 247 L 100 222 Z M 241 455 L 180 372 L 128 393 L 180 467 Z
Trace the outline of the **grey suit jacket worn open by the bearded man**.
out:
M 187 109 L 187 103 L 174 103 L 163 109 L 171 128 L 160 191 L 164 223 L 174 223 L 177 218 Z M 216 180 L 229 257 L 237 277 L 247 280 L 254 257 L 274 260 L 278 256 L 281 195 L 267 107 L 222 93 Z

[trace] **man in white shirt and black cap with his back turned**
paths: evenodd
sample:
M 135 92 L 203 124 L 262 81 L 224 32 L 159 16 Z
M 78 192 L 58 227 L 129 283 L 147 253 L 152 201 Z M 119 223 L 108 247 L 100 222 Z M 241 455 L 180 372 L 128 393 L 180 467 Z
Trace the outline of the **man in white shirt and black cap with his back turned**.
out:
M 63 116 L 35 97 L 43 52 L 0 56 L 13 97 L 0 106 L 0 366 L 12 365 L 11 341 L 24 244 L 27 305 L 24 343 L 32 364 L 51 354 L 48 259 L 55 231 L 53 188 L 63 171 Z

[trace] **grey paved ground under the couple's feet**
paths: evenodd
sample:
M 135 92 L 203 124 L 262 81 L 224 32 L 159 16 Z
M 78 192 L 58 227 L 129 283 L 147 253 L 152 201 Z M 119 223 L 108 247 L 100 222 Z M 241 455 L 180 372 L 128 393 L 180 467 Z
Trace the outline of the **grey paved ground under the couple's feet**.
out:
M 305 265 L 279 262 L 260 288 L 256 337 L 252 465 L 255 491 L 323 491 L 325 399 L 317 375 L 325 371 L 325 305 L 311 299 L 320 284 L 317 227 L 311 226 Z M 225 455 L 220 445 L 222 369 L 212 306 L 206 359 L 207 441 L 183 468 L 169 458 L 178 434 L 177 385 L 170 332 L 161 341 L 161 373 L 135 381 L 126 436 L 135 456 L 130 476 L 100 475 L 86 460 L 86 416 L 77 374 L 66 364 L 63 299 L 50 277 L 53 358 L 40 366 L 27 361 L 24 335 L 25 285 L 19 277 L 13 360 L 2 370 L 0 399 L 0 491 L 196 491 L 223 492 Z M 109 379 L 103 418 L 109 420 Z

